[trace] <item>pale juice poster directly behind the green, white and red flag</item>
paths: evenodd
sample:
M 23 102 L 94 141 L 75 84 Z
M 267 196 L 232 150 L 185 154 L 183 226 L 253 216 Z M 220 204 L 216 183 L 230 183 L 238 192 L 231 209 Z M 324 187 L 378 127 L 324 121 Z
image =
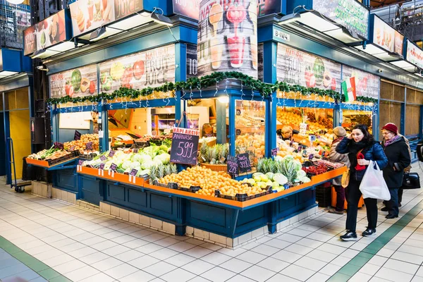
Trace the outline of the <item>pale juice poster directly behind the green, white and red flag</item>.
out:
M 355 92 L 357 97 L 370 97 L 379 99 L 380 78 L 379 76 L 343 66 L 343 79 L 355 78 Z

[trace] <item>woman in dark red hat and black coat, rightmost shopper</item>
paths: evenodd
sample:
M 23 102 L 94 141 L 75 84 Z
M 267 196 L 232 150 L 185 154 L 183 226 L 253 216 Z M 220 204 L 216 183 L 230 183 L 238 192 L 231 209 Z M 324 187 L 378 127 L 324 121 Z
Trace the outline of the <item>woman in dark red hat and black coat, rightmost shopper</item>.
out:
M 408 152 L 407 142 L 404 137 L 398 135 L 398 128 L 393 123 L 387 123 L 382 128 L 384 142 L 382 146 L 388 165 L 384 168 L 384 178 L 391 193 L 391 200 L 386 203 L 388 215 L 386 219 L 398 217 L 398 189 L 403 185 L 404 168 L 410 166 L 411 159 Z

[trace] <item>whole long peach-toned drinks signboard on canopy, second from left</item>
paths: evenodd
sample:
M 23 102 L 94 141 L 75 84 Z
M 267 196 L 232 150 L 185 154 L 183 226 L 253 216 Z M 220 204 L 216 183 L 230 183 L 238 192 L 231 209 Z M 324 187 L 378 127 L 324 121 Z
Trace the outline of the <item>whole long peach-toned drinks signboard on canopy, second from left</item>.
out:
M 97 28 L 142 11 L 142 0 L 78 0 L 69 5 L 73 36 L 97 30 Z

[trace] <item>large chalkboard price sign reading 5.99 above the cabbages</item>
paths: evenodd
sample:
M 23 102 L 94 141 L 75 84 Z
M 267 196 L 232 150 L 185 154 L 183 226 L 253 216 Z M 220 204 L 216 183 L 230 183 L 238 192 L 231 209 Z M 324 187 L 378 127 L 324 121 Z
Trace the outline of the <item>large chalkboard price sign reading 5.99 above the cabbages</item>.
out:
M 188 128 L 173 128 L 171 162 L 197 164 L 200 131 Z

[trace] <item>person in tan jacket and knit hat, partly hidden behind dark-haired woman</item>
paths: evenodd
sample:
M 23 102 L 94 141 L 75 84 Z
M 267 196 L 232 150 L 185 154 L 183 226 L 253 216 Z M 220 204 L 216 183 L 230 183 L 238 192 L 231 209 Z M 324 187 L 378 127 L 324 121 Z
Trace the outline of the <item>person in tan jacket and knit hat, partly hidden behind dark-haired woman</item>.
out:
M 339 154 L 336 152 L 336 146 L 343 138 L 347 135 L 347 132 L 342 126 L 333 128 L 333 134 L 336 135 L 336 139 L 333 140 L 331 144 L 331 150 L 329 151 L 329 161 L 334 161 L 336 163 L 343 163 L 345 166 L 350 167 L 350 160 L 348 159 L 348 154 Z M 338 177 L 333 179 L 332 184 L 333 188 L 336 191 L 336 208 L 329 209 L 331 214 L 343 214 L 344 203 L 345 203 L 345 189 L 341 186 L 341 178 Z

